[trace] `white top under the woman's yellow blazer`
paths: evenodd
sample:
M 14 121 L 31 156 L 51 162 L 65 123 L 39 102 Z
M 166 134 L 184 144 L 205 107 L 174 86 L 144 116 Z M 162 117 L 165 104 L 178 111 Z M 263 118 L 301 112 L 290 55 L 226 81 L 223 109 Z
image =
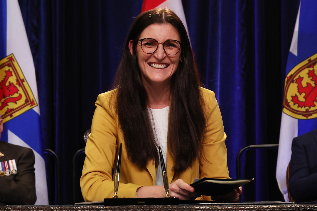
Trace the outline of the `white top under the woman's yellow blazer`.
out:
M 161 147 L 162 154 L 164 157 L 164 163 L 166 167 L 166 157 L 167 157 L 167 130 L 168 130 L 168 111 L 169 106 L 163 109 L 149 109 L 152 113 L 152 126 L 154 129 L 154 137 L 157 140 L 157 143 Z M 150 114 L 151 114 L 150 113 Z M 151 115 L 150 115 L 151 117 Z M 159 150 L 159 149 L 158 149 Z M 159 163 L 156 168 L 156 185 L 164 185 L 163 184 L 163 176 L 162 176 L 162 167 Z

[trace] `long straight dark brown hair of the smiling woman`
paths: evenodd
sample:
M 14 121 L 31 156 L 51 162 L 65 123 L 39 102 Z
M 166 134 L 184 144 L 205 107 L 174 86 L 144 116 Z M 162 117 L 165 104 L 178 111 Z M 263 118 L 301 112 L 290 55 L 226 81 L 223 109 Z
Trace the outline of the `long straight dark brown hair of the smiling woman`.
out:
M 182 172 L 195 161 L 201 161 L 201 146 L 205 117 L 200 94 L 197 67 L 194 62 L 186 29 L 170 9 L 152 9 L 136 17 L 128 34 L 123 56 L 118 67 L 113 88 L 120 127 L 127 153 L 140 168 L 154 160 L 159 163 L 157 141 L 147 109 L 147 93 L 141 79 L 136 49 L 141 32 L 151 24 L 169 23 L 180 35 L 181 58 L 178 69 L 171 78 L 171 106 L 167 144 L 174 159 L 173 171 Z M 133 55 L 129 42 L 133 40 Z

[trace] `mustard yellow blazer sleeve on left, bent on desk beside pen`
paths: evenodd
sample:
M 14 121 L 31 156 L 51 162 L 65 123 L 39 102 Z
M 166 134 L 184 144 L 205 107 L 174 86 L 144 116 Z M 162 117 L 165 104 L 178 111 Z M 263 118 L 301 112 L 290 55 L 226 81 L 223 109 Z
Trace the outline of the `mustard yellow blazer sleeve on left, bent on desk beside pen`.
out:
M 86 202 L 111 198 L 114 187 L 112 168 L 117 150 L 118 122 L 105 94 L 98 96 L 95 105 L 96 110 L 86 143 L 86 158 L 80 179 L 81 193 Z M 119 183 L 118 195 L 135 197 L 136 189 L 141 186 Z

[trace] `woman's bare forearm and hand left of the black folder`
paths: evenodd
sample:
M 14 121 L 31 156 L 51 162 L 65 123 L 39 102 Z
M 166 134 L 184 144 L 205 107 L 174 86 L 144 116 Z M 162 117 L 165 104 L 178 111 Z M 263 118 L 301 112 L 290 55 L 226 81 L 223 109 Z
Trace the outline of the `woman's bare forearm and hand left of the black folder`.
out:
M 195 189 L 183 180 L 178 179 L 174 183 L 169 184 L 169 194 L 171 197 L 177 197 L 180 200 L 194 200 L 200 196 Z M 137 197 L 165 197 L 164 186 L 142 186 L 137 189 Z

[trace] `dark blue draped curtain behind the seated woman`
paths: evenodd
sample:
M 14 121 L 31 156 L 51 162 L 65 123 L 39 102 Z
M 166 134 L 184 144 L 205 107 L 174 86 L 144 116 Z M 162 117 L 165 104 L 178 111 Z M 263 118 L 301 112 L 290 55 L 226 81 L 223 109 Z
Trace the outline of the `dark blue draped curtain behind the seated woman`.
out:
M 43 145 L 62 162 L 60 203 L 72 204 L 74 153 L 85 147 L 82 134 L 91 126 L 94 102 L 111 87 L 142 0 L 19 3 L 36 68 Z M 299 0 L 183 1 L 202 81 L 215 91 L 222 112 L 232 178 L 241 148 L 278 143 L 281 76 L 298 6 Z M 242 157 L 242 176 L 255 178 L 244 187 L 243 201 L 283 200 L 275 180 L 276 154 L 262 150 Z M 51 180 L 54 174 L 47 171 Z M 50 184 L 49 190 L 54 190 Z

